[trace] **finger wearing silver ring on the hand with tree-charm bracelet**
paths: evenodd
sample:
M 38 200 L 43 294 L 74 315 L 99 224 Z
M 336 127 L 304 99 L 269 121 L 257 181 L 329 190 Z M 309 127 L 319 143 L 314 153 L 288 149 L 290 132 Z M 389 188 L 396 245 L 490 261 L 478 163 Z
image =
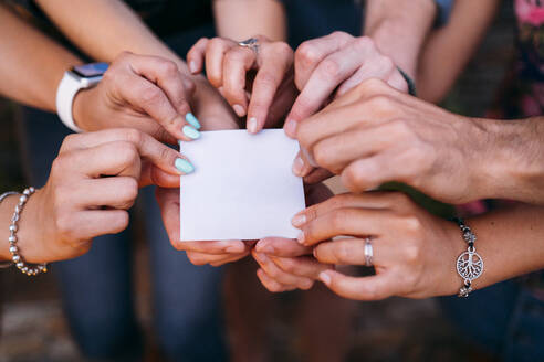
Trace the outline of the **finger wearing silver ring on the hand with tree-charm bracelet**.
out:
M 383 265 L 387 259 L 384 248 L 379 242 L 373 239 L 373 264 Z M 341 238 L 332 242 L 321 243 L 314 248 L 314 257 L 321 263 L 335 265 L 365 265 L 365 244 L 364 238 Z

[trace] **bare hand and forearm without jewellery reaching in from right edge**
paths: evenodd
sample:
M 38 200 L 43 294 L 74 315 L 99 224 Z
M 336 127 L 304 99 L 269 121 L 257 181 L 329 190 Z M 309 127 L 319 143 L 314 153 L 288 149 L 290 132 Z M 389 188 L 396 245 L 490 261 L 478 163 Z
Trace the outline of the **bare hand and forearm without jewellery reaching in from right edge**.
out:
M 370 79 L 306 118 L 296 138 L 314 164 L 353 192 L 398 181 L 454 204 L 538 203 L 542 131 L 537 119 L 462 117 Z

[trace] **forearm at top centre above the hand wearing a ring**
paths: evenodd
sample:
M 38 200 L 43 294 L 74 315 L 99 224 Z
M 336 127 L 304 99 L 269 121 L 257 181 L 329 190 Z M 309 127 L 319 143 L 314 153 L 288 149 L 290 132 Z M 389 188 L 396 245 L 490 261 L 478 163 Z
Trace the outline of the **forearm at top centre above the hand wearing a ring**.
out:
M 213 14 L 218 35 L 241 41 L 264 35 L 286 41 L 285 9 L 276 0 L 215 0 Z

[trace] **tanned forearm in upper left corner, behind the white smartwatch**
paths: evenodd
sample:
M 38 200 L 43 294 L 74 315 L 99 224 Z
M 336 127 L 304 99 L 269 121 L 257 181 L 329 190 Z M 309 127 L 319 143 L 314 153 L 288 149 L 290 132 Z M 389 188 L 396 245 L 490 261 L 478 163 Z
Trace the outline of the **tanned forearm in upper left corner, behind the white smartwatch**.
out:
M 0 94 L 54 111 L 56 87 L 64 72 L 81 61 L 0 6 Z

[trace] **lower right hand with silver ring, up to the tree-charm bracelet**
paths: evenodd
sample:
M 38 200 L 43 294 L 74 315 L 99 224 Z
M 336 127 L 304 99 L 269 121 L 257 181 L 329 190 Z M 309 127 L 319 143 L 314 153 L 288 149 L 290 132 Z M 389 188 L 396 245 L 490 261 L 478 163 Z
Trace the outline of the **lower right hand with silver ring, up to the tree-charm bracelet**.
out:
M 398 192 L 342 194 L 297 214 L 299 242 L 325 264 L 365 265 L 372 238 L 376 275 L 326 270 L 320 279 L 337 295 L 358 300 L 391 296 L 453 295 L 462 284 L 456 260 L 467 245 L 454 223 L 438 219 Z M 328 241 L 339 235 L 353 238 Z

